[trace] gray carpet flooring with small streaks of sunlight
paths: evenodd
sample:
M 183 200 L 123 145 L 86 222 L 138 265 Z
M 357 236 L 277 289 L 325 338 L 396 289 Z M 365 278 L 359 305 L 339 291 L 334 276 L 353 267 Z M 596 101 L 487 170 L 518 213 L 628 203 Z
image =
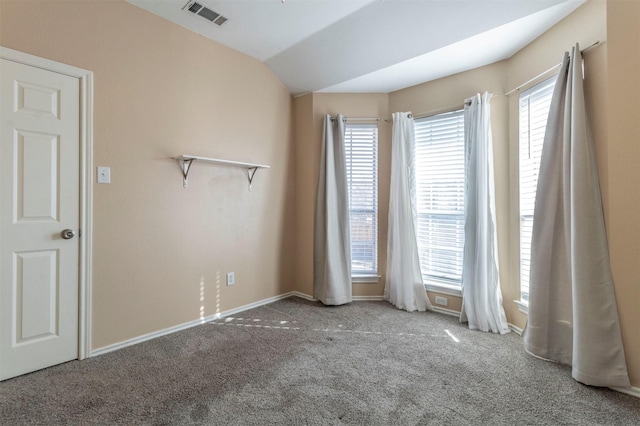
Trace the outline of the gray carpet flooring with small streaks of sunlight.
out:
M 288 298 L 0 383 L 0 424 L 637 425 L 514 333 Z

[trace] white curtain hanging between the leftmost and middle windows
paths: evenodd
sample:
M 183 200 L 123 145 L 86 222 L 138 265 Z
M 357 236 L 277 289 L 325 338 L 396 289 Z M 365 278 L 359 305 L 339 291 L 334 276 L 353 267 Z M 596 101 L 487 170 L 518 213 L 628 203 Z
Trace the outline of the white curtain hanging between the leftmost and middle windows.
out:
M 432 310 L 422 283 L 416 240 L 415 133 L 413 118 L 393 114 L 391 188 L 384 299 L 408 312 Z

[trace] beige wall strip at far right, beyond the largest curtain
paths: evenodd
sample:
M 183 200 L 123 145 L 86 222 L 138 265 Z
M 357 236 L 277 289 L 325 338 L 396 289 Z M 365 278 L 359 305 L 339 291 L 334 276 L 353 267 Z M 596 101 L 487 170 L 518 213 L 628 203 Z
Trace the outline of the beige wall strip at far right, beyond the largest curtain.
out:
M 609 1 L 605 114 L 608 238 L 631 384 L 640 387 L 640 2 Z

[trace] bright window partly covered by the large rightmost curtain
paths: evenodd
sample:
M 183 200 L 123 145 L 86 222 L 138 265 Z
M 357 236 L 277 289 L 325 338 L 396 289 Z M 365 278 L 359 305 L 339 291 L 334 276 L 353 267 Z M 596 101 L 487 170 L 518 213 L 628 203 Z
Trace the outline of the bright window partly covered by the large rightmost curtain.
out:
M 556 77 L 520 94 L 520 301 L 529 302 L 533 208 Z

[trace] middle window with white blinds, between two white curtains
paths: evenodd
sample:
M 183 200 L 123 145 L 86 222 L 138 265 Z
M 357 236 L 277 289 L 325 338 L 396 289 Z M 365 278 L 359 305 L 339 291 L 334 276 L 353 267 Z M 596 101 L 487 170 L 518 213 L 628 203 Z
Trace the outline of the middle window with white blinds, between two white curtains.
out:
M 425 285 L 459 289 L 464 251 L 464 111 L 415 120 L 416 207 Z

